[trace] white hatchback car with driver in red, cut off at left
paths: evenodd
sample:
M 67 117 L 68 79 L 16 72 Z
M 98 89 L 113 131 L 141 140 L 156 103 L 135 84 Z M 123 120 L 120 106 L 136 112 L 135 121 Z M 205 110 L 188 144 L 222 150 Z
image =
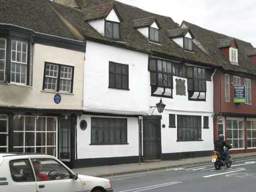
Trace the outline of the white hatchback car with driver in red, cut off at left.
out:
M 108 179 L 77 175 L 54 156 L 0 153 L 0 191 L 113 192 Z

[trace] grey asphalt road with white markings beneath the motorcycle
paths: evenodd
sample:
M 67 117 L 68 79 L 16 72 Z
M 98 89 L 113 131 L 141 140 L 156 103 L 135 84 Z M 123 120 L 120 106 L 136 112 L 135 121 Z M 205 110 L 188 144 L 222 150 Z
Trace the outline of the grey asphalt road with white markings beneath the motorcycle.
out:
M 215 170 L 213 164 L 180 167 L 155 172 L 113 176 L 114 192 L 139 191 L 256 191 L 256 158 L 233 161 L 229 169 Z

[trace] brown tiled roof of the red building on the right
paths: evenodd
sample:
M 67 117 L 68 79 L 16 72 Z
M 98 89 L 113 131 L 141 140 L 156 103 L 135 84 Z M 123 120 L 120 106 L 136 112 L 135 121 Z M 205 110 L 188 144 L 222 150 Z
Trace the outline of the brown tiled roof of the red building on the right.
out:
M 210 31 L 208 29 L 202 28 L 198 25 L 194 25 L 186 21 L 184 21 L 183 23 L 187 26 L 187 28 L 189 28 L 195 39 L 201 43 L 201 45 L 204 47 L 204 49 L 207 50 L 207 52 L 209 52 L 214 62 L 222 66 L 223 69 L 256 75 L 255 64 L 252 63 L 251 59 L 248 57 L 245 51 L 245 49 L 253 48 L 251 43 L 244 42 L 239 39 L 234 39 L 233 37 L 228 37 L 224 34 L 216 33 L 214 31 Z M 231 40 L 235 40 L 238 48 L 238 65 L 231 64 L 229 58 L 226 58 L 225 55 L 222 53 L 221 49 L 219 49 L 219 40 L 223 39 L 225 39 L 225 42 L 227 42 L 225 43 L 225 46 L 229 45 L 229 43 L 231 43 Z

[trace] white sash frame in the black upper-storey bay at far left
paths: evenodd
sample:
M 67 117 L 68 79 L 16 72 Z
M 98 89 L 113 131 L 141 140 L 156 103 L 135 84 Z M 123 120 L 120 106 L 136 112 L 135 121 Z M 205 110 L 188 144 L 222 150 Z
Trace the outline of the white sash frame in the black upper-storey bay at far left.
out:
M 13 54 L 12 54 L 12 52 L 13 52 L 13 42 L 16 42 L 16 50 L 15 50 L 15 52 L 16 52 L 16 58 L 15 58 L 15 60 L 13 60 Z M 22 48 L 21 48 L 21 61 L 17 61 L 17 44 L 18 44 L 18 42 L 20 42 L 20 43 L 26 43 L 26 46 L 27 46 L 27 48 L 26 48 L 26 51 L 27 52 L 22 52 Z M 26 63 L 23 63 L 22 62 L 22 54 L 26 54 Z M 28 42 L 22 42 L 22 41 L 20 41 L 20 40 L 16 40 L 16 39 L 12 39 L 11 40 L 11 66 L 12 66 L 12 63 L 14 63 L 15 64 L 15 68 L 16 68 L 16 64 L 20 64 L 20 65 L 24 65 L 24 66 L 26 66 L 26 70 L 25 70 L 25 82 L 16 82 L 16 69 L 15 69 L 15 72 L 14 72 L 14 75 L 15 75 L 15 78 L 14 78 L 14 81 L 11 81 L 11 78 L 10 78 L 10 82 L 12 83 L 12 84 L 17 84 L 17 85 L 27 85 L 27 70 L 28 70 Z M 21 68 L 20 68 L 20 70 L 21 70 Z M 10 72 L 10 76 L 11 76 L 11 73 L 12 72 Z M 21 72 L 20 72 L 20 74 L 22 74 Z M 21 81 L 21 75 L 20 75 L 20 81 Z

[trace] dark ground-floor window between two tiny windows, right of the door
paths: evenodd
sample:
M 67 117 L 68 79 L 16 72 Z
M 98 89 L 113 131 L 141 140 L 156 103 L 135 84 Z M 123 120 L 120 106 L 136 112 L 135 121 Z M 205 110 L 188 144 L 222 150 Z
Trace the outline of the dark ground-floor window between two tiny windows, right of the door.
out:
M 201 116 L 177 116 L 178 141 L 202 140 Z

